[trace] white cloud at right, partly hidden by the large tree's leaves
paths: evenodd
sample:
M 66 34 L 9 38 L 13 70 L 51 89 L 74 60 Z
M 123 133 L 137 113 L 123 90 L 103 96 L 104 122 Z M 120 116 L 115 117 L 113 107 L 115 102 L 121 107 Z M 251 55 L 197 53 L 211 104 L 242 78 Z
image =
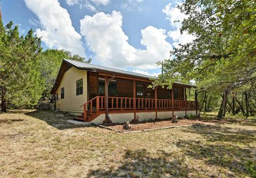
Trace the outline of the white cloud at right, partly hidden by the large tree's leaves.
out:
M 170 20 L 171 25 L 175 28 L 173 31 L 168 31 L 168 35 L 174 41 L 172 45 L 174 47 L 178 47 L 178 44 L 186 44 L 192 42 L 194 36 L 189 35 L 186 31 L 183 32 L 183 34 L 180 34 L 181 22 L 183 19 L 187 18 L 187 15 L 181 13 L 177 7 L 172 7 L 172 3 L 167 4 L 162 11 L 167 15 L 167 19 Z M 178 20 L 180 22 L 174 22 Z

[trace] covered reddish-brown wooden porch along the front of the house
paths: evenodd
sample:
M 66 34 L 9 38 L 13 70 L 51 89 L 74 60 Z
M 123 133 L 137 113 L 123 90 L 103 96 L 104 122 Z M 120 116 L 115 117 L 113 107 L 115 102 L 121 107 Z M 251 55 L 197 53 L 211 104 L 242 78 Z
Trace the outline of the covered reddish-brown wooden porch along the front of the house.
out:
M 90 122 L 100 114 L 197 110 L 197 101 L 187 101 L 187 88 L 194 86 L 175 83 L 171 90 L 162 87 L 148 88 L 149 79 L 89 72 L 88 100 L 81 107 L 80 116 Z M 195 97 L 196 100 L 196 97 Z

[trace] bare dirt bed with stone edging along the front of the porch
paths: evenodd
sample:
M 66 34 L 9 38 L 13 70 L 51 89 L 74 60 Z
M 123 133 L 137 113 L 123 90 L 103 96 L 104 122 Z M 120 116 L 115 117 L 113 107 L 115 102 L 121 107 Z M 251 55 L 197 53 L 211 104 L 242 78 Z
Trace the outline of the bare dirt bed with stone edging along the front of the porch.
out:
M 203 122 L 199 120 L 189 120 L 189 119 L 179 119 L 178 123 L 172 123 L 171 119 L 157 119 L 157 120 L 150 120 L 148 122 L 140 122 L 140 123 L 131 123 L 131 127 L 129 130 L 125 130 L 123 128 L 123 124 L 102 124 L 108 128 L 114 129 L 116 131 L 143 131 L 143 130 L 154 130 L 157 128 L 164 128 L 164 127 L 175 127 L 175 126 L 185 126 L 185 125 L 192 125 L 192 124 L 203 124 Z

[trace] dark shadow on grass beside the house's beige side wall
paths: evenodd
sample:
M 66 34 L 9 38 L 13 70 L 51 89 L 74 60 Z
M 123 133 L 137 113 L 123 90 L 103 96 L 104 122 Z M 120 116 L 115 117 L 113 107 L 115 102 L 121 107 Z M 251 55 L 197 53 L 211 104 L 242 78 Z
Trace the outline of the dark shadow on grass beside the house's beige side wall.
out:
M 69 123 L 67 120 L 73 120 L 75 116 L 67 114 L 65 112 L 61 112 L 61 111 L 36 110 L 32 112 L 27 112 L 25 115 L 43 120 L 48 125 L 58 128 L 59 130 L 65 130 L 69 128 L 80 128 L 80 127 L 95 127 L 92 125 L 77 125 L 77 124 Z

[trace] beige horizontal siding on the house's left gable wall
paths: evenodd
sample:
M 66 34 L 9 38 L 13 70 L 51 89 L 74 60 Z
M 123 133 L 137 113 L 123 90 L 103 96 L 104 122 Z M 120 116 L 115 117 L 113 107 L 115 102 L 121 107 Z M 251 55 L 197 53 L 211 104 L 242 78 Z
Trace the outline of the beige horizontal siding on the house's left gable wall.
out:
M 76 95 L 76 81 L 81 78 L 83 78 L 83 94 Z M 61 99 L 60 88 L 62 87 L 65 88 L 64 99 Z M 63 75 L 56 93 L 59 96 L 59 100 L 56 102 L 57 109 L 73 113 L 83 112 L 83 107 L 79 107 L 87 101 L 87 71 L 71 67 Z

